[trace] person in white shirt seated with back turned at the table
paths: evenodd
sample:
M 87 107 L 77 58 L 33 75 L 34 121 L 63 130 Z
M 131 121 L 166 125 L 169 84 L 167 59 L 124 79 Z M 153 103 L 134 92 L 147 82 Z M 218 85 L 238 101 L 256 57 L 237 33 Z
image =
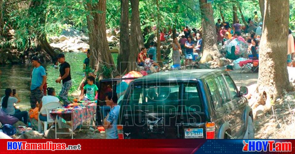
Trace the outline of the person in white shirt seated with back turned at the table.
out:
M 47 93 L 48 95 L 43 96 L 42 101 L 39 103 L 39 112 L 41 111 L 42 106 L 44 106 L 45 104 L 50 102 L 59 102 L 59 99 L 55 97 L 56 94 L 54 88 L 47 88 Z M 47 115 L 45 110 L 41 112 L 41 114 L 39 115 L 39 119 L 41 121 L 47 121 Z

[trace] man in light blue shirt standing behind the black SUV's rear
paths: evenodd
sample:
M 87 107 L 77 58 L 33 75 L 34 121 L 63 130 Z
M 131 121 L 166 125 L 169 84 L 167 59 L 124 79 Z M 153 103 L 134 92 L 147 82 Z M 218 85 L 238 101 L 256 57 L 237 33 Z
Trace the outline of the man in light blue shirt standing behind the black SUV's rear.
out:
M 118 97 L 116 92 L 108 92 L 105 97 L 107 106 L 111 107 L 111 111 L 107 117 L 104 118 L 104 129 L 106 133 L 106 139 L 118 139 L 118 117 L 120 112 L 120 106 L 117 104 Z

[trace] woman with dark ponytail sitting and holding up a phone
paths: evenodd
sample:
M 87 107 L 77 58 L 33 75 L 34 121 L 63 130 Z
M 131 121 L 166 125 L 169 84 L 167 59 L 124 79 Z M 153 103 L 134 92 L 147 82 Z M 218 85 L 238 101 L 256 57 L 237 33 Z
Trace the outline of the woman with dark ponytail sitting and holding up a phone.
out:
M 25 124 L 27 124 L 28 112 L 14 108 L 14 103 L 18 102 L 21 102 L 21 99 L 19 99 L 18 94 L 14 94 L 10 88 L 7 88 L 5 90 L 5 96 L 1 99 L 1 109 L 7 114 L 17 117 L 20 121 L 23 121 Z

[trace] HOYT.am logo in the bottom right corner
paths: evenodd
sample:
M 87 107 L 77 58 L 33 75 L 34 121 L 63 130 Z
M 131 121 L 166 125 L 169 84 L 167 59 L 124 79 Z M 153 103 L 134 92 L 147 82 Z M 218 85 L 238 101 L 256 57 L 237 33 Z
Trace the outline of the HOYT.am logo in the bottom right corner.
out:
M 292 151 L 291 142 L 275 142 L 274 140 L 243 140 L 243 151 L 249 152 L 289 152 Z

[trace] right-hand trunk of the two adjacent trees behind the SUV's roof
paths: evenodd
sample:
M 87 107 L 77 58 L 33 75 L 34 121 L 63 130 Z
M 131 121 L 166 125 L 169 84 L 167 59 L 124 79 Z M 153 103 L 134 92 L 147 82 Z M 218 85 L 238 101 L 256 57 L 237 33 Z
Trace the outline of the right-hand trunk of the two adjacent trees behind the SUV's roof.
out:
M 132 71 L 137 68 L 137 54 L 140 52 L 140 48 L 144 47 L 144 38 L 140 28 L 140 16 L 139 16 L 139 0 L 131 1 L 131 36 L 130 36 L 130 54 L 128 58 L 127 71 Z

